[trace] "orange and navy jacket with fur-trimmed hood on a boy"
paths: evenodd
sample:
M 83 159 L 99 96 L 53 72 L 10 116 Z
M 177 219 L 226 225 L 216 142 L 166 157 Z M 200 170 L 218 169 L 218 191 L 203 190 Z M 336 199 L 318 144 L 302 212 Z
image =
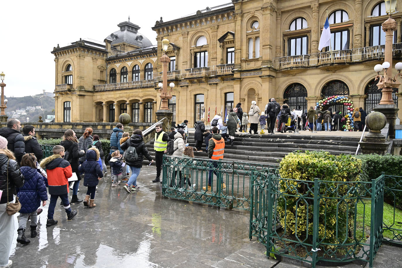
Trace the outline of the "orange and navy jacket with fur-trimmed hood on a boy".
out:
M 41 168 L 46 168 L 49 194 L 68 194 L 68 178 L 73 176 L 71 165 L 61 155 L 53 154 L 43 159 Z

